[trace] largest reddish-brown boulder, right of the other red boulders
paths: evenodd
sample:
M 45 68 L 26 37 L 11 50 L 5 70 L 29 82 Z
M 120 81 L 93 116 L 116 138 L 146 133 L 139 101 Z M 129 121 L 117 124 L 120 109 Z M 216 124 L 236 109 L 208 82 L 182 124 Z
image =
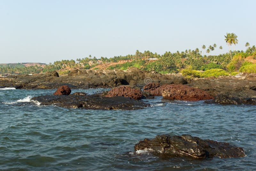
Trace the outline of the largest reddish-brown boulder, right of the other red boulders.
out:
M 162 96 L 165 99 L 186 101 L 213 99 L 213 97 L 204 90 L 181 84 L 170 84 L 165 86 L 162 90 Z

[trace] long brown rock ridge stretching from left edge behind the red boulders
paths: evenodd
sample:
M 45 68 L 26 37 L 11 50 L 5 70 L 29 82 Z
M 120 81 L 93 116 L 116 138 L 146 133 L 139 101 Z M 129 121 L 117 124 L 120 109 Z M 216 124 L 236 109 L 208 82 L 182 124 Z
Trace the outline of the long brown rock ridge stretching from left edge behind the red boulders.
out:
M 136 85 L 143 87 L 150 82 L 163 84 L 187 84 L 190 79 L 181 75 L 168 75 L 141 71 L 138 68 L 122 70 L 71 70 L 68 76 L 56 77 L 53 73 L 33 75 L 12 75 L 0 78 L 0 86 L 21 89 L 53 89 L 61 85 L 70 88 L 116 87 Z

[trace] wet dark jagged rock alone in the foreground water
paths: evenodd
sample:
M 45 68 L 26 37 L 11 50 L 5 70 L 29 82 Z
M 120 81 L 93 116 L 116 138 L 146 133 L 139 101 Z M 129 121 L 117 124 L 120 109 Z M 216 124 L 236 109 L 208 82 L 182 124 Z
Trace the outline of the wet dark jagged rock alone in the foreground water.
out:
M 169 136 L 157 135 L 153 139 L 144 139 L 134 146 L 134 150 L 150 150 L 170 156 L 188 156 L 205 159 L 217 156 L 220 158 L 244 157 L 244 149 L 228 143 L 203 140 L 191 135 Z

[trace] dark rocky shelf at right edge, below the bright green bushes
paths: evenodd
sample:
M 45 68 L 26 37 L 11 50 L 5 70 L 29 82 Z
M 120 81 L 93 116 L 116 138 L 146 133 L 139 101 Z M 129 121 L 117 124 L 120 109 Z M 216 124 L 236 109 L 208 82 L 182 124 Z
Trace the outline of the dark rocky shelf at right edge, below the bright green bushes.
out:
M 202 89 L 214 97 L 214 100 L 206 103 L 255 104 L 255 74 L 199 78 L 192 80 L 188 85 Z

